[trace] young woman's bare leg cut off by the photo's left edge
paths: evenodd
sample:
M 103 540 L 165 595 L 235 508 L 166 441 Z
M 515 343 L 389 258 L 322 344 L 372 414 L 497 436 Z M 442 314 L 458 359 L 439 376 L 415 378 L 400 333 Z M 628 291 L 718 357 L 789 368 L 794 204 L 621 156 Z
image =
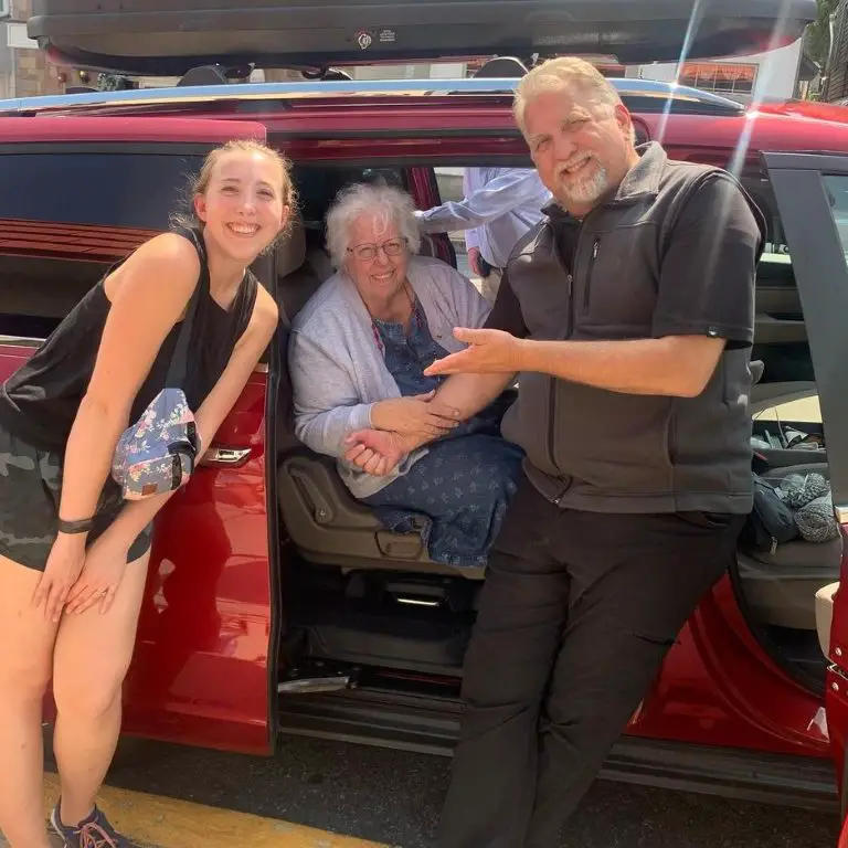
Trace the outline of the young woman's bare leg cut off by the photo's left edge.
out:
M 32 605 L 40 579 L 0 556 L 0 830 L 11 848 L 50 848 L 41 721 L 56 628 Z

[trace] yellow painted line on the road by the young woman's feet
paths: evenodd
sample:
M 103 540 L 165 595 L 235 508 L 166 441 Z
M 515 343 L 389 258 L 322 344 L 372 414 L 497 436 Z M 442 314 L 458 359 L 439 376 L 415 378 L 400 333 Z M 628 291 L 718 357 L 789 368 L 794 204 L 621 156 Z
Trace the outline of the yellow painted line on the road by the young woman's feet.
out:
M 59 778 L 47 774 L 45 810 L 57 798 Z M 110 786 L 104 786 L 97 803 L 118 830 L 150 848 L 386 848 L 290 822 Z

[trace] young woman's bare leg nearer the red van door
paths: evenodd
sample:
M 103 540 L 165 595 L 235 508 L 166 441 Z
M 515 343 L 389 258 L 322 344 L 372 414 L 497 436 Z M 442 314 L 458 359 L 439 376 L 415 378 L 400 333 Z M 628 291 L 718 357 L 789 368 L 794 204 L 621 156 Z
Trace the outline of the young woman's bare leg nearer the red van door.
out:
M 63 617 L 53 660 L 53 751 L 62 823 L 88 816 L 120 733 L 121 685 L 132 658 L 150 554 L 130 562 L 106 615 L 98 605 Z

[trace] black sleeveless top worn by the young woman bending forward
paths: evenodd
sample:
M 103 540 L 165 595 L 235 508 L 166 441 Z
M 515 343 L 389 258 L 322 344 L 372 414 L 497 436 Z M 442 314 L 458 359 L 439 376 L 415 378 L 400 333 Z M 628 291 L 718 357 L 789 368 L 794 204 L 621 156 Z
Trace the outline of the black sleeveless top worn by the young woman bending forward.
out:
M 191 240 L 191 234 L 178 230 Z M 199 239 L 202 239 L 198 234 Z M 97 349 L 112 303 L 103 276 L 32 358 L 15 371 L 0 390 L 0 425 L 18 438 L 42 451 L 63 453 L 80 403 L 94 371 Z M 180 386 L 197 412 L 226 368 L 236 341 L 250 324 L 258 282 L 248 271 L 230 309 L 222 309 L 210 293 L 209 265 L 200 255 L 201 287 L 191 327 L 186 379 Z M 148 375 L 136 395 L 128 425 L 136 422 L 150 401 L 166 388 L 171 354 L 182 321 L 166 337 Z

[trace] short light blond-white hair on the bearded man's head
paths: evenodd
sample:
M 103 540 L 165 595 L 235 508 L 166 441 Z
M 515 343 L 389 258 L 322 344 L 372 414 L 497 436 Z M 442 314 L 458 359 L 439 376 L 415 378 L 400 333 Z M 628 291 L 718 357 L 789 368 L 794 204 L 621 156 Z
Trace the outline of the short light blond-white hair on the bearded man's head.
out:
M 611 113 L 622 103 L 615 86 L 591 62 L 576 56 L 560 56 L 537 65 L 516 87 L 512 114 L 518 128 L 527 135 L 524 112 L 530 100 L 549 92 L 574 89 L 583 94 L 597 112 Z M 635 140 L 636 129 L 630 125 L 630 141 Z

